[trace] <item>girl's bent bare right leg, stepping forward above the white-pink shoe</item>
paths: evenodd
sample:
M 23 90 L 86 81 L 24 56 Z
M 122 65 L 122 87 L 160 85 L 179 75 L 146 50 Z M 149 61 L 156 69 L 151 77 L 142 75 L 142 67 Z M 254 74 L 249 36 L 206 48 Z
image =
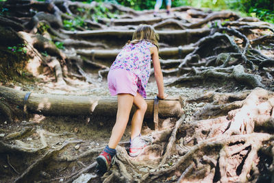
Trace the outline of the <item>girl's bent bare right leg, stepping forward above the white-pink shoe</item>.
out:
M 136 112 L 132 117 L 132 139 L 140 134 L 142 130 L 142 121 L 147 110 L 147 102 L 139 93 L 134 97 L 133 103 L 134 106 L 136 106 Z

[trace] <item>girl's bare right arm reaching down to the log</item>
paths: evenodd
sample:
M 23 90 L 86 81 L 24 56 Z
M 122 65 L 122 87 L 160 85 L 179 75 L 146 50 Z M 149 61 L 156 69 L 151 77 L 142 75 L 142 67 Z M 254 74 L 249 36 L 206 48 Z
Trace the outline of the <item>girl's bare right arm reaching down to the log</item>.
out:
M 167 97 L 167 95 L 164 93 L 164 80 L 163 80 L 163 75 L 162 75 L 162 70 L 160 66 L 160 60 L 158 56 L 158 49 L 157 47 L 151 47 L 151 58 L 153 61 L 153 67 L 154 67 L 154 76 L 156 79 L 156 83 L 158 86 L 158 97 L 160 99 L 164 99 Z

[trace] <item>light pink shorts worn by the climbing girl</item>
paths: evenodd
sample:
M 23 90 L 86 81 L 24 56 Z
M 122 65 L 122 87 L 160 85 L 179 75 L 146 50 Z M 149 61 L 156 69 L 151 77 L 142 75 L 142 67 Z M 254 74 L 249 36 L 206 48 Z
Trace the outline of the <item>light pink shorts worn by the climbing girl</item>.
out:
M 114 69 L 108 73 L 108 88 L 110 95 L 129 93 L 136 96 L 138 77 L 125 69 Z

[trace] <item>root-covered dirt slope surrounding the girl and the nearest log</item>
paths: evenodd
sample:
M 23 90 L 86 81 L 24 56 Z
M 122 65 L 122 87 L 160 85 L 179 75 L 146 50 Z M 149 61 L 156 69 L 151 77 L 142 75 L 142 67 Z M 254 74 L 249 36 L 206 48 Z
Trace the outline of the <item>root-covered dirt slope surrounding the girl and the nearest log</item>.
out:
M 10 15 L 1 16 L 0 25 L 18 29 L 27 42 L 30 60 L 25 64 L 39 66 L 1 86 L 38 94 L 110 97 L 105 79 L 109 66 L 133 29 L 147 23 L 160 34 L 165 92 L 182 99 L 184 114 L 160 118 L 158 130 L 145 119 L 142 134 L 154 141 L 136 158 L 127 154 L 129 120 L 116 162 L 99 175 L 95 158 L 108 144 L 115 117 L 25 114 L 0 88 L 0 112 L 5 114 L 0 116 L 0 182 L 274 180 L 273 25 L 230 11 L 181 7 L 154 17 L 152 10 L 136 12 L 110 4 L 105 7 L 119 12 L 119 19 L 96 23 L 87 17 L 101 4 L 73 1 L 22 1 L 28 7 L 22 18 L 18 4 L 10 2 L 1 5 L 20 17 L 9 22 Z M 76 15 L 86 17 L 86 27 L 69 31 L 58 25 L 75 21 Z M 52 44 L 60 41 L 64 49 Z M 11 53 L 5 49 L 0 47 L 3 56 Z M 8 57 L 3 60 L 10 63 Z M 9 73 L 2 64 L 0 77 Z M 158 93 L 153 73 L 146 91 L 152 99 Z

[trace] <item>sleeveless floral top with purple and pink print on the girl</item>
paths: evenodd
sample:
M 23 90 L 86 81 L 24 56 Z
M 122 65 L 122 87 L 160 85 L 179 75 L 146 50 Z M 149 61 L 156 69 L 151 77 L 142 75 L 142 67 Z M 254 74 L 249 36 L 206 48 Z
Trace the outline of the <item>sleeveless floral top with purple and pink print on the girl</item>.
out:
M 138 77 L 137 92 L 144 98 L 147 98 L 145 88 L 149 81 L 151 69 L 149 49 L 151 47 L 155 47 L 155 45 L 147 40 L 141 40 L 136 44 L 129 43 L 123 47 L 110 67 L 110 70 L 125 69 L 134 73 Z

